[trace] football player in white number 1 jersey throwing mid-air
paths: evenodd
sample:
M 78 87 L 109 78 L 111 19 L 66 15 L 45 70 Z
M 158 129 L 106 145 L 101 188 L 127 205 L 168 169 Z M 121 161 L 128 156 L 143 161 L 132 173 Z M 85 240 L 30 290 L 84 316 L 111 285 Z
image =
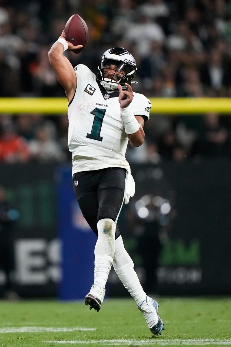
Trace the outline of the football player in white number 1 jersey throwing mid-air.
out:
M 117 227 L 123 203 L 128 203 L 135 192 L 125 159 L 126 147 L 128 141 L 135 147 L 142 145 L 144 121 L 149 119 L 151 102 L 132 91 L 137 68 L 135 59 L 125 48 L 107 50 L 100 58 L 95 76 L 82 64 L 73 69 L 63 55 L 66 49 L 81 47 L 67 42 L 63 32 L 48 57 L 69 101 L 68 147 L 72 153 L 75 196 L 83 216 L 98 236 L 94 283 L 85 304 L 90 310 L 100 310 L 113 265 L 151 332 L 161 335 L 164 328 L 157 312 L 159 305 L 145 294 Z

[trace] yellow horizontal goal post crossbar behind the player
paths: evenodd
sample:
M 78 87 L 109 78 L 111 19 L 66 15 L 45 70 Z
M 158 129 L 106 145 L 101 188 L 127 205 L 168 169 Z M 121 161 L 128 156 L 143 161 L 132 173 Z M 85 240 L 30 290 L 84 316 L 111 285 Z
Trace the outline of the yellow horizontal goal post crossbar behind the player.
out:
M 231 114 L 231 98 L 149 98 L 150 113 L 190 115 L 207 112 Z M 66 98 L 0 98 L 0 114 L 67 113 Z

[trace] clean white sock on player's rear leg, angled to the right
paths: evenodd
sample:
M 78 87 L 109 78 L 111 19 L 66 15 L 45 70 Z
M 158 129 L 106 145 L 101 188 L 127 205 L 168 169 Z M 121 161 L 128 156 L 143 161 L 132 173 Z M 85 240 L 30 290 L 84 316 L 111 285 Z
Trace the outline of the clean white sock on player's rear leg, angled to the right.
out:
M 115 240 L 113 267 L 124 287 L 135 299 L 137 305 L 141 305 L 146 299 L 146 293 L 144 292 L 140 280 L 134 270 L 134 263 L 124 248 L 121 236 Z

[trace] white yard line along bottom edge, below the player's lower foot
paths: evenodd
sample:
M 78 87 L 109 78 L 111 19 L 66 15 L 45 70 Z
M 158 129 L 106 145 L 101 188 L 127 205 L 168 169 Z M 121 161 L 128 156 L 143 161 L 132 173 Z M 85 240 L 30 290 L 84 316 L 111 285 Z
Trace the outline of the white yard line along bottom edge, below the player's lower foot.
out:
M 136 345 L 136 346 L 176 346 L 176 345 L 184 345 L 184 346 L 206 346 L 206 345 L 216 345 L 216 346 L 224 346 L 224 345 L 230 345 L 231 346 L 231 339 L 230 340 L 221 340 L 221 339 L 165 339 L 162 340 L 160 338 L 158 339 L 149 339 L 149 340 L 125 340 L 125 339 L 119 339 L 119 340 L 67 340 L 67 341 L 43 341 L 48 343 L 54 343 L 54 344 L 76 344 L 76 345 L 83 345 L 83 344 L 100 344 L 101 346 L 129 346 L 129 345 Z

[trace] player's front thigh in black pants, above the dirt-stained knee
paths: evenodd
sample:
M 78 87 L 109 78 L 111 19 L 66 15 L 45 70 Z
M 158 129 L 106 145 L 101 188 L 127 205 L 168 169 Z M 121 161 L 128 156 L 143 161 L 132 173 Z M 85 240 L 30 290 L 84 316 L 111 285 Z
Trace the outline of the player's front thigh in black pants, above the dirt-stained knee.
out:
M 124 201 L 126 170 L 109 168 L 100 177 L 98 185 L 98 220 L 116 221 Z

